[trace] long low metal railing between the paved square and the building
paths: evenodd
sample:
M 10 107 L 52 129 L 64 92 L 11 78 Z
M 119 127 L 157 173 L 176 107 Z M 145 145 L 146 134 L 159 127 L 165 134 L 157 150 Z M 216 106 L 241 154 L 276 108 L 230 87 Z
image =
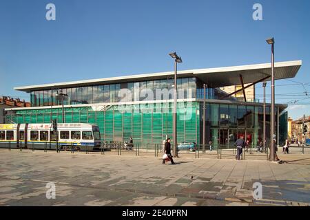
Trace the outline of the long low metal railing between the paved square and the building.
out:
M 48 147 L 50 146 L 50 147 Z M 75 153 L 75 151 L 85 151 L 85 154 L 95 154 L 99 153 L 101 155 L 136 155 L 136 156 L 153 156 L 153 157 L 161 157 L 163 153 L 163 144 L 160 143 L 146 143 L 143 144 L 141 142 L 134 143 L 132 148 L 126 148 L 123 142 L 101 142 L 99 146 L 93 146 L 92 144 L 85 144 L 83 146 L 79 146 L 74 143 L 68 143 L 67 146 L 55 146 L 56 148 L 61 148 L 60 151 L 70 150 L 71 153 Z M 51 143 L 41 142 L 37 143 L 35 141 L 28 142 L 27 149 L 29 151 L 35 150 L 43 150 L 44 152 L 48 152 L 50 150 L 54 150 L 55 147 L 51 147 Z M 8 142 L 8 150 L 11 151 L 15 148 L 14 144 L 10 141 Z M 295 148 L 295 147 L 293 147 Z M 19 142 L 16 144 L 16 149 L 19 151 L 23 151 L 25 149 L 25 142 Z M 280 149 L 280 147 L 279 147 Z M 307 151 L 306 151 L 307 150 Z M 308 151 L 307 147 L 305 147 L 305 152 Z M 278 150 L 278 153 L 282 152 Z M 294 153 L 301 153 L 301 149 L 297 149 Z M 196 144 L 195 148 L 183 148 L 183 150 L 178 151 L 179 157 L 190 157 L 190 158 L 213 158 L 213 159 L 234 159 L 237 154 L 236 146 L 229 146 L 227 144 Z M 172 151 L 172 155 L 174 155 Z M 240 155 L 242 159 L 269 159 L 269 146 L 265 148 L 258 148 L 258 146 L 250 145 L 247 148 L 242 148 L 242 155 Z

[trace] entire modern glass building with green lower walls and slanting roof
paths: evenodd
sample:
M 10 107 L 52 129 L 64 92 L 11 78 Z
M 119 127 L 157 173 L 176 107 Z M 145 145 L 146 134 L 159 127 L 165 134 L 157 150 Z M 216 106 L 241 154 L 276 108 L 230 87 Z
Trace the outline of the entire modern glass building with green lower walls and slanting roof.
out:
M 276 79 L 296 76 L 301 61 L 276 63 Z M 245 135 L 251 144 L 262 139 L 263 104 L 240 102 L 218 89 L 227 85 L 260 83 L 270 80 L 271 64 L 245 65 L 178 72 L 178 142 L 203 142 L 203 102 L 205 98 L 205 137 L 214 146 L 233 146 Z M 203 84 L 207 85 L 205 96 Z M 142 74 L 15 87 L 30 94 L 31 107 L 6 109 L 6 122 L 97 124 L 107 141 L 159 144 L 172 138 L 174 73 Z M 59 98 L 66 94 L 65 98 Z M 63 108 L 62 108 L 63 104 Z M 287 105 L 276 104 L 278 142 L 287 137 Z M 270 105 L 266 107 L 269 138 Z M 281 132 L 281 133 L 280 133 Z M 174 140 L 172 140 L 173 143 Z

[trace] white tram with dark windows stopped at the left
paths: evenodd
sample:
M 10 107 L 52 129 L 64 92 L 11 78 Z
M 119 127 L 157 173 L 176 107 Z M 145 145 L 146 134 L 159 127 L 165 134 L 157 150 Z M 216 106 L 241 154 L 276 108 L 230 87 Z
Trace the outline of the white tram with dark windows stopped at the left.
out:
M 57 138 L 58 137 L 58 138 Z M 92 151 L 101 144 L 99 127 L 84 123 L 0 124 L 0 148 L 56 149 Z

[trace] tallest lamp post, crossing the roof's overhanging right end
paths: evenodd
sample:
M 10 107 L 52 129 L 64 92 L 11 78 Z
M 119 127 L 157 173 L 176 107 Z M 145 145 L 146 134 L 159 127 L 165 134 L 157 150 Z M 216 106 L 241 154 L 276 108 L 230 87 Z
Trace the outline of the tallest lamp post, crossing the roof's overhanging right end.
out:
M 274 122 L 275 122 L 275 115 L 274 115 L 274 39 L 267 39 L 266 40 L 269 45 L 271 45 L 271 117 L 270 117 L 270 161 L 275 161 L 276 151 L 275 151 L 275 144 L 273 142 L 273 135 L 274 135 Z

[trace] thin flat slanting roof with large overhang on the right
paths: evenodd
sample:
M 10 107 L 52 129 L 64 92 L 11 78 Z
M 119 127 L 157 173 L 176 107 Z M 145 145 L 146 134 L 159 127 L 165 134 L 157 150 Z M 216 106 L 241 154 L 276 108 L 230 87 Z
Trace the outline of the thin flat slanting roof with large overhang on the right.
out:
M 287 61 L 275 63 L 275 79 L 293 78 L 302 65 L 302 61 Z M 234 67 L 220 67 L 209 69 L 192 69 L 178 71 L 178 77 L 197 77 L 209 87 L 225 87 L 229 85 L 240 85 L 240 75 L 243 83 L 254 83 L 262 78 L 271 76 L 271 63 L 242 65 Z M 111 83 L 125 83 L 128 81 L 138 82 L 144 80 L 156 80 L 173 78 L 174 72 L 161 72 L 156 74 L 140 74 L 133 76 L 120 76 L 112 78 L 99 78 L 94 80 L 79 80 L 67 83 L 51 83 L 43 85 L 31 85 L 25 87 L 14 87 L 19 91 L 36 91 L 44 89 L 61 89 L 66 87 L 83 87 L 90 85 L 105 85 Z M 271 80 L 271 77 L 265 79 Z

